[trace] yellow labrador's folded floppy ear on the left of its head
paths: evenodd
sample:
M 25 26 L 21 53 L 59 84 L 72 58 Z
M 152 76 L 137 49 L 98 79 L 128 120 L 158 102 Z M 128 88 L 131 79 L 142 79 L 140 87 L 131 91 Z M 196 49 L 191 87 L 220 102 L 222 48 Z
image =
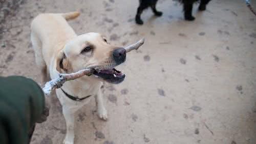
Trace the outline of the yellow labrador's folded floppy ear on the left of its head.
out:
M 67 56 L 63 51 L 60 51 L 57 56 L 56 69 L 58 72 L 62 73 L 63 71 L 68 72 L 68 67 L 69 67 L 69 61 Z

